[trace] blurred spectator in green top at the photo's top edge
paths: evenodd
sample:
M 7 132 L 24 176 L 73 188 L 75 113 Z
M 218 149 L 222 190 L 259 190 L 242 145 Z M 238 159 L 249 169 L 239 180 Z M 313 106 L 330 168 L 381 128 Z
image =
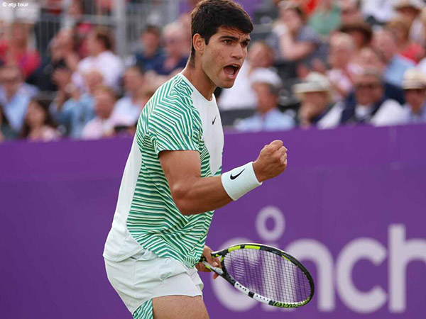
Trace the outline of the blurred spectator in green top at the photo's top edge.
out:
M 334 0 L 320 0 L 320 4 L 309 19 L 308 25 L 320 35 L 327 37 L 341 23 L 339 4 Z

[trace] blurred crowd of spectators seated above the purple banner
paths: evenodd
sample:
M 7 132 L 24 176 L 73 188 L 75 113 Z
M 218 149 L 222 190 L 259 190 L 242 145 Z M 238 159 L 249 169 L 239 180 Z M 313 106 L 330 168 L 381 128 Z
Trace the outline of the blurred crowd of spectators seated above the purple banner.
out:
M 133 135 L 155 89 L 186 65 L 188 12 L 147 23 L 126 57 L 114 30 L 84 16 L 71 0 L 47 54 L 33 21 L 0 20 L 0 141 Z M 264 0 L 252 18 L 235 85 L 215 92 L 226 129 L 426 123 L 424 1 Z

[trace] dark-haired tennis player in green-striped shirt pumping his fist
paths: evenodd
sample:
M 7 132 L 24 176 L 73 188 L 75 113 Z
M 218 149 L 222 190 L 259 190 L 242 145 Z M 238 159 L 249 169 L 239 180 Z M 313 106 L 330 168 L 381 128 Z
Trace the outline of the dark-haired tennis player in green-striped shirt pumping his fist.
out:
M 221 175 L 224 135 L 213 91 L 234 84 L 251 30 L 234 1 L 201 1 L 187 67 L 143 108 L 104 250 L 109 281 L 133 318 L 209 318 L 195 266 L 202 254 L 217 265 L 204 246 L 214 209 L 287 166 L 275 140 L 255 162 Z

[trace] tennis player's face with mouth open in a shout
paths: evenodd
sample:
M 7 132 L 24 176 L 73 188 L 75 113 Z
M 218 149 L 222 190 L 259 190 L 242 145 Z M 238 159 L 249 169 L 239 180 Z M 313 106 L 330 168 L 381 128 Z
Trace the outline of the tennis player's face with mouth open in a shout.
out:
M 225 89 L 234 85 L 247 57 L 250 35 L 240 30 L 219 28 L 202 54 L 202 69 L 215 86 Z

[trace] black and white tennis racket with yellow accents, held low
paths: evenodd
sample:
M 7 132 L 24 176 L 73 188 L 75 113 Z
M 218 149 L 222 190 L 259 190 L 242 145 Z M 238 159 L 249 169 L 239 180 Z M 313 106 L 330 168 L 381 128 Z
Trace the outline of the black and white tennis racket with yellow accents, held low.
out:
M 220 257 L 222 269 L 213 267 L 203 256 L 200 262 L 222 276 L 247 296 L 280 308 L 306 305 L 314 295 L 312 276 L 290 254 L 260 244 L 234 245 L 212 257 Z

